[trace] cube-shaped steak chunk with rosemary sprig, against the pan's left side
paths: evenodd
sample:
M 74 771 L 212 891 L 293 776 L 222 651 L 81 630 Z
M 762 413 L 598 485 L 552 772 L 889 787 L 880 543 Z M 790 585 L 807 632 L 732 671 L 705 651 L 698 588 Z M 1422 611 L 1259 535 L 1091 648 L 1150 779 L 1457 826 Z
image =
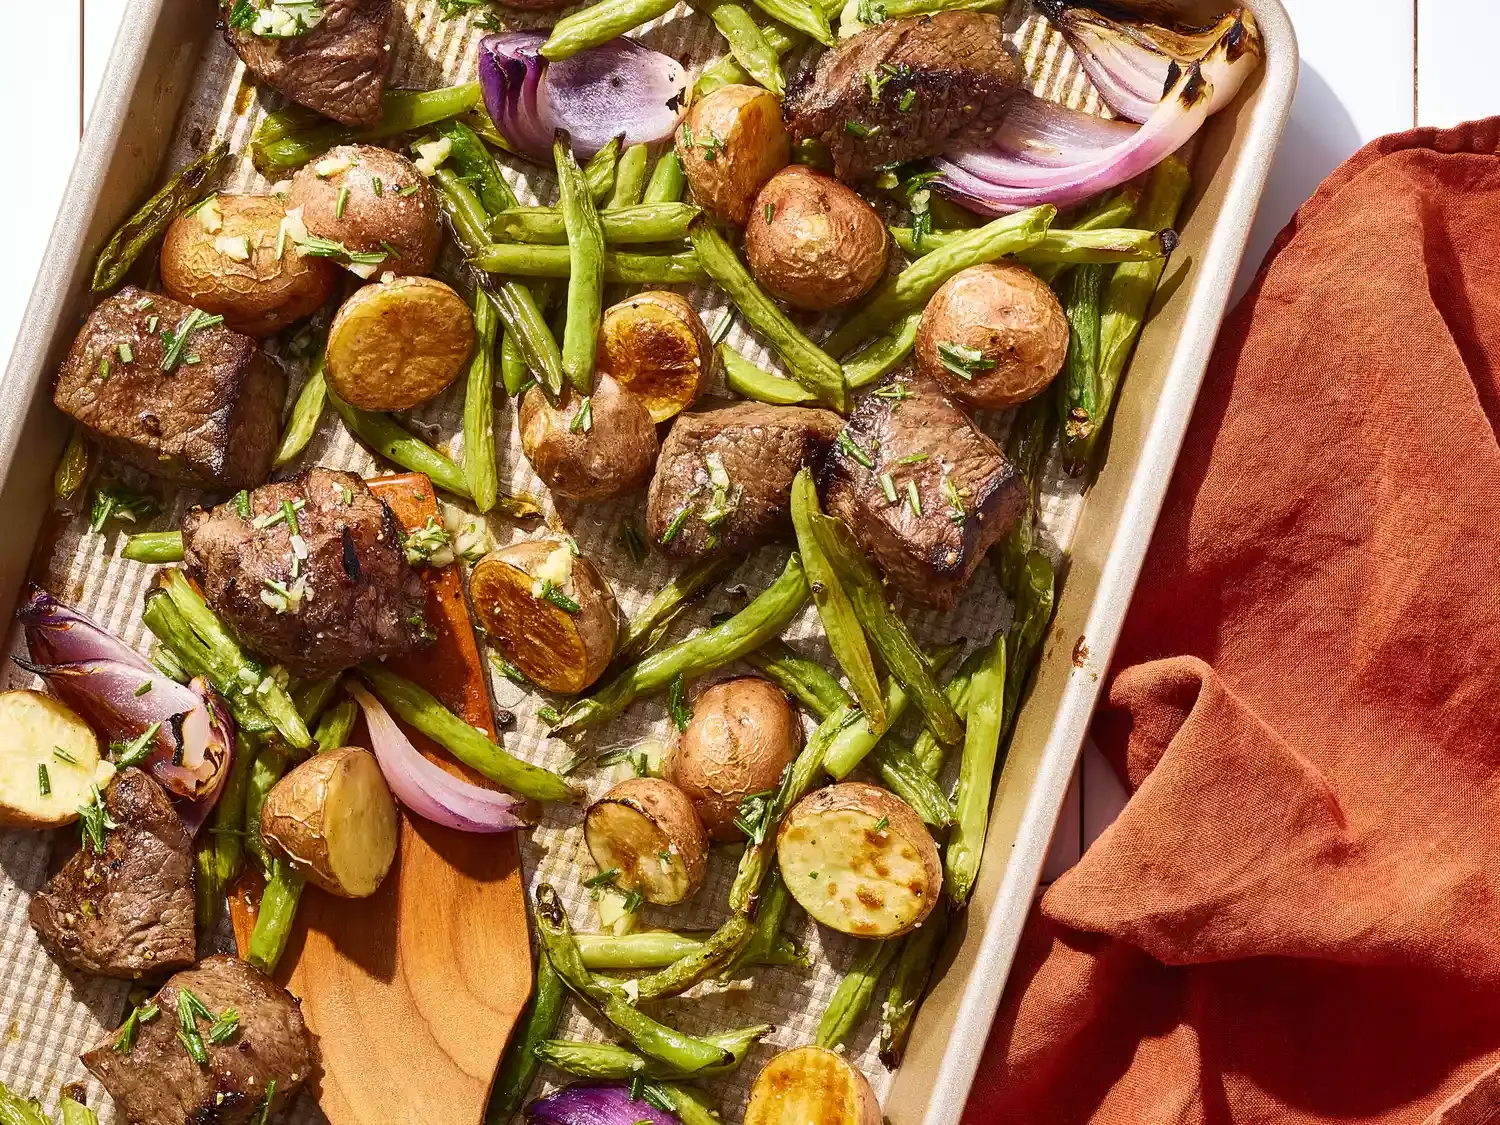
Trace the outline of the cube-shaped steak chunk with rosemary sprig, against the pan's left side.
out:
M 126 285 L 88 315 L 52 400 L 144 472 L 189 488 L 254 488 L 272 471 L 286 375 L 216 318 L 196 327 L 204 316 Z

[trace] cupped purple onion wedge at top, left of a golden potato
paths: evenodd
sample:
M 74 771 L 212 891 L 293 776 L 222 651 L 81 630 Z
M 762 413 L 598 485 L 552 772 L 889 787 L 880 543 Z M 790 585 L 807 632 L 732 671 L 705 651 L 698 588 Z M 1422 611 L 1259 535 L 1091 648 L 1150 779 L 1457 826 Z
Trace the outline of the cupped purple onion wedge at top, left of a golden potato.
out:
M 496 32 L 478 45 L 484 108 L 501 136 L 538 164 L 566 129 L 588 159 L 610 138 L 650 144 L 672 135 L 687 111 L 687 70 L 634 39 L 610 39 L 555 63 L 542 57 L 546 32 Z

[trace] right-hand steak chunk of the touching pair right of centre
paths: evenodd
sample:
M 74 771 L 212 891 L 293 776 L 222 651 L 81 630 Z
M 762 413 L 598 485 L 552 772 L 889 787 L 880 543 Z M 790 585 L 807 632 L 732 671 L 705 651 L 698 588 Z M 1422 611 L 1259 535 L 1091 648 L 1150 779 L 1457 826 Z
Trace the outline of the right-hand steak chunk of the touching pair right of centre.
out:
M 1026 506 L 1026 486 L 999 446 L 936 382 L 912 374 L 860 399 L 822 483 L 828 512 L 849 525 L 886 582 L 936 609 L 952 609 Z

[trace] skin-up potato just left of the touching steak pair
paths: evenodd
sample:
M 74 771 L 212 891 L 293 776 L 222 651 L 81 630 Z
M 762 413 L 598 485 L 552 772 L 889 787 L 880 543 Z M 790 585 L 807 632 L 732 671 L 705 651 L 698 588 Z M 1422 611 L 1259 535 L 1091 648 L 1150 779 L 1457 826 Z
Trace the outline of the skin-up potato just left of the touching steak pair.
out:
M 568 392 L 554 406 L 540 387 L 522 396 L 518 424 L 531 468 L 567 500 L 610 500 L 645 484 L 658 448 L 651 411 L 603 372 L 590 396 L 592 426 L 574 434 L 580 402 Z

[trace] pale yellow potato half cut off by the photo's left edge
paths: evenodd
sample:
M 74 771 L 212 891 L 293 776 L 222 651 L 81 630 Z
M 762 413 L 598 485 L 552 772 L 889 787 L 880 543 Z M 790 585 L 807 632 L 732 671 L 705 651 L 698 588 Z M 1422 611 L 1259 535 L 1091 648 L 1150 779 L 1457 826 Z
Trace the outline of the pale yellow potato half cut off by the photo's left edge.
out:
M 0 826 L 72 824 L 112 774 L 94 732 L 69 708 L 40 692 L 0 693 Z

